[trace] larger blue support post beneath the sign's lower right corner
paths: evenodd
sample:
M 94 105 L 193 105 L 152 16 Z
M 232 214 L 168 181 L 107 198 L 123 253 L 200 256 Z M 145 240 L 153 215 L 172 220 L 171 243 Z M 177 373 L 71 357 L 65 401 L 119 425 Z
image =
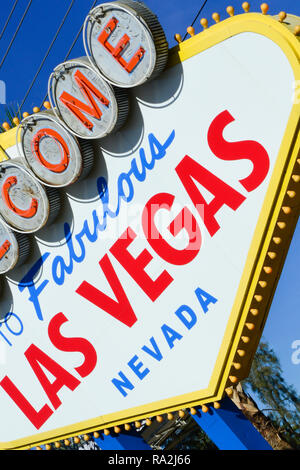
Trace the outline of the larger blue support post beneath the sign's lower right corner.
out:
M 225 398 L 220 404 L 220 409 L 209 407 L 207 413 L 199 407 L 192 415 L 220 450 L 272 450 L 232 400 Z

